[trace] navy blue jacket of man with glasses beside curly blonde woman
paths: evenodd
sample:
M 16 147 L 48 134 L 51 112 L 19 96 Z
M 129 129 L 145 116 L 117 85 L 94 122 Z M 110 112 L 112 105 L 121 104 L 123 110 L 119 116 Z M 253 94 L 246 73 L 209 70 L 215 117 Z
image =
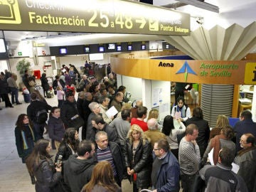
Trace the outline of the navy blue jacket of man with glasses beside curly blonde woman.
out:
M 180 189 L 179 173 L 180 168 L 176 157 L 168 152 L 157 173 L 155 186 L 157 192 L 178 192 Z

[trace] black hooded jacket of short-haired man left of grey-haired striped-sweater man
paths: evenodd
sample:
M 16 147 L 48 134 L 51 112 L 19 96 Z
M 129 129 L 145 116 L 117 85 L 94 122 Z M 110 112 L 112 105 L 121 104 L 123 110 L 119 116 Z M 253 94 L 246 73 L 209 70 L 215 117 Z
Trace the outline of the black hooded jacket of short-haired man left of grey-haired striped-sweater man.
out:
M 78 155 L 71 155 L 63 163 L 64 181 L 72 192 L 80 192 L 82 187 L 90 181 L 92 169 L 97 164 L 93 159 L 78 159 Z

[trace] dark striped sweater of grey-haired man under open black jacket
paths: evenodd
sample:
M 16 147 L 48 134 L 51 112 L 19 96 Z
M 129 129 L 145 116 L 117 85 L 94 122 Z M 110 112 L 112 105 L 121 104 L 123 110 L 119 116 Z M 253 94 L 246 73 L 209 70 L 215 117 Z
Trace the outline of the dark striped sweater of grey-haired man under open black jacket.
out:
M 106 149 L 100 149 L 99 147 L 97 147 L 96 155 L 97 155 L 98 162 L 109 161 L 112 166 L 114 176 L 117 176 L 117 170 L 114 166 L 114 159 L 110 151 L 110 146 L 107 146 Z

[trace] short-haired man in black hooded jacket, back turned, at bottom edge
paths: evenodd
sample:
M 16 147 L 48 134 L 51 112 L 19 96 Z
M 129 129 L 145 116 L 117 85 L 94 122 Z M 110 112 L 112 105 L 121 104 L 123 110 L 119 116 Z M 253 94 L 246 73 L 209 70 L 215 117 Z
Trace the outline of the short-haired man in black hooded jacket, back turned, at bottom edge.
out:
M 82 187 L 90 181 L 92 169 L 97 161 L 92 159 L 95 145 L 82 140 L 78 146 L 78 154 L 73 154 L 63 164 L 64 181 L 72 192 L 80 192 Z

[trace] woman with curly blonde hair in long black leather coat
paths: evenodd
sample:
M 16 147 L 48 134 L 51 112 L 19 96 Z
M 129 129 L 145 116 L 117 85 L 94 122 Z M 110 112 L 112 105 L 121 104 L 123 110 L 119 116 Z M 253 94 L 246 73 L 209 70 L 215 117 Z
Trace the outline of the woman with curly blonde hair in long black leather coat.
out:
M 124 146 L 125 166 L 129 181 L 133 181 L 133 192 L 139 188 L 149 188 L 152 167 L 150 141 L 144 136 L 142 128 L 133 124 L 127 134 Z

